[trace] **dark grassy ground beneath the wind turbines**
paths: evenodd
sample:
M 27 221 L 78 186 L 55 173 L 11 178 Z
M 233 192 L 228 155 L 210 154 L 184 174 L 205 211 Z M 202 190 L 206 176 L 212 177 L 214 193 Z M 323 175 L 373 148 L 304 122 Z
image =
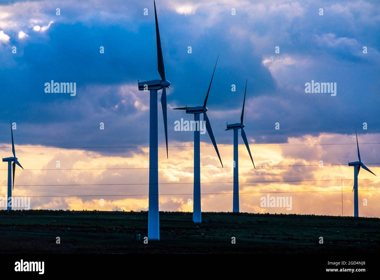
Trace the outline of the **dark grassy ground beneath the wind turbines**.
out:
M 380 248 L 378 218 L 203 213 L 204 222 L 194 224 L 192 213 L 160 212 L 161 240 L 144 244 L 147 216 L 2 210 L 0 253 L 375 253 Z

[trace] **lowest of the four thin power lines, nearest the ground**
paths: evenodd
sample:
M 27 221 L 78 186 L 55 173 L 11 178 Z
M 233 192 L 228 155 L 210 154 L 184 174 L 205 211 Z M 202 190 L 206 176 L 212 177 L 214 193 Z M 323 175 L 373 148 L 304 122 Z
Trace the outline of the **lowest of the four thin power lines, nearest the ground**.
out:
M 377 191 L 374 190 L 358 190 L 359 192 L 370 192 Z M 295 193 L 307 193 L 307 192 L 340 192 L 340 190 L 314 190 L 314 191 L 304 191 L 304 192 L 241 192 L 239 194 L 295 194 Z M 351 192 L 351 190 L 344 190 L 344 192 Z M 215 193 L 205 193 L 202 195 L 217 195 L 217 194 L 233 194 L 233 192 L 215 192 Z M 193 195 L 193 194 L 158 194 L 158 195 Z M 149 196 L 149 194 L 105 194 L 105 195 L 33 195 L 29 197 L 122 197 L 122 196 Z

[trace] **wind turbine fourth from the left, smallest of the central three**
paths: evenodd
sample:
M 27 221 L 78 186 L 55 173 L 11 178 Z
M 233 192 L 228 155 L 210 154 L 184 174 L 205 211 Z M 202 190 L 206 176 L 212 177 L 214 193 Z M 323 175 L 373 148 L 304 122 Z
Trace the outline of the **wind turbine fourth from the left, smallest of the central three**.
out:
M 232 123 L 230 125 L 227 124 L 227 129 L 226 130 L 234 130 L 234 188 L 233 188 L 233 206 L 232 206 L 232 211 L 233 212 L 239 212 L 239 152 L 238 152 L 238 145 L 237 145 L 237 130 L 241 129 L 241 138 L 243 138 L 243 141 L 245 143 L 245 146 L 247 147 L 249 156 L 251 157 L 252 163 L 252 155 L 251 151 L 249 149 L 248 141 L 247 141 L 247 136 L 245 135 L 244 132 L 244 123 L 243 123 L 243 118 L 244 118 L 244 105 L 245 105 L 245 94 L 247 93 L 247 80 L 245 81 L 245 91 L 244 91 L 244 101 L 243 101 L 243 109 L 241 111 L 241 117 L 240 117 L 240 123 Z M 255 163 L 253 163 L 253 167 L 255 167 Z

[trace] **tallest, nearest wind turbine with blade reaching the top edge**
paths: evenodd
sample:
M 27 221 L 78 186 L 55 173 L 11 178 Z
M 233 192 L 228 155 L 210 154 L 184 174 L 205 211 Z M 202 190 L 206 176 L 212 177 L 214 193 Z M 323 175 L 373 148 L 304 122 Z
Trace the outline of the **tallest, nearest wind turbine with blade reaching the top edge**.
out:
M 150 91 L 149 112 L 149 211 L 148 240 L 160 240 L 160 220 L 158 216 L 158 129 L 157 129 L 157 91 L 162 89 L 161 106 L 164 118 L 166 157 L 168 157 L 168 120 L 166 109 L 166 88 L 170 82 L 165 78 L 165 67 L 162 56 L 160 31 L 158 30 L 156 3 L 154 2 L 156 19 L 157 65 L 161 80 L 138 82 L 139 90 Z

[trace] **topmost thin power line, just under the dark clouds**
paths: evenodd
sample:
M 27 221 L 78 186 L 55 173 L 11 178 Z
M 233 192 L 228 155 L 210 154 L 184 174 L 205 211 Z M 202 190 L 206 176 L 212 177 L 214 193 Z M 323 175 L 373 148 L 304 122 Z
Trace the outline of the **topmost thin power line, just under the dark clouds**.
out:
M 360 143 L 360 145 L 368 145 L 368 144 L 380 144 L 380 142 L 374 143 Z M 256 147 L 265 147 L 265 146 L 325 146 L 325 145 L 356 145 L 356 143 L 323 143 L 323 144 L 250 144 L 250 146 Z M 238 145 L 244 146 L 244 145 Z M 158 148 L 166 148 L 166 146 L 157 146 Z M 193 146 L 168 146 L 169 148 L 181 148 L 188 147 L 192 148 Z M 200 146 L 200 147 L 214 147 L 214 146 Z M 233 147 L 233 145 L 218 145 L 218 147 Z M 8 146 L 0 147 L 0 149 L 11 148 Z M 149 148 L 149 146 L 50 146 L 50 147 L 36 147 L 36 146 L 16 146 L 16 148 L 40 148 L 40 149 L 48 149 L 48 148 L 61 148 L 61 149 L 101 149 L 101 148 Z M 155 148 L 155 147 L 152 147 Z

